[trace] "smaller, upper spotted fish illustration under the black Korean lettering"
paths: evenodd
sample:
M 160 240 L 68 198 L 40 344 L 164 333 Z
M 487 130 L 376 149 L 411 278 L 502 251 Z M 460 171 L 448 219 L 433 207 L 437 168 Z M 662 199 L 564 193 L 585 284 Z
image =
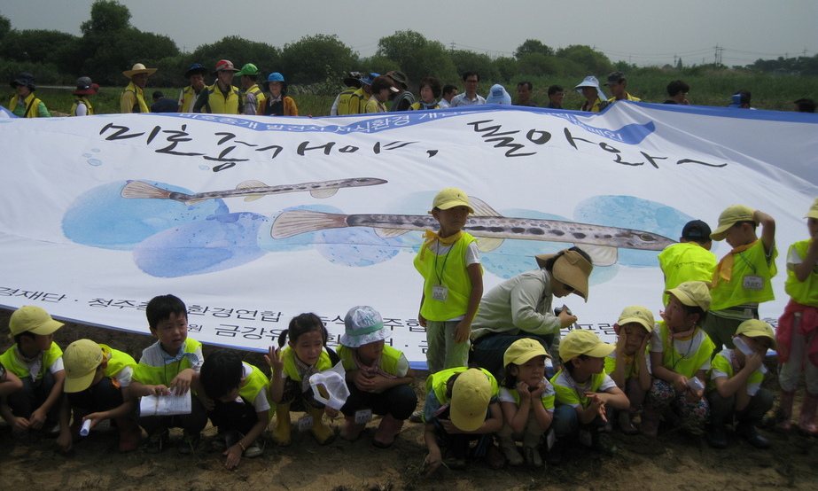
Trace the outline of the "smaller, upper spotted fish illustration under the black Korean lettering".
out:
M 245 201 L 260 199 L 268 194 L 282 194 L 284 192 L 309 191 L 313 198 L 329 198 L 341 188 L 357 188 L 361 186 L 375 186 L 385 184 L 388 181 L 376 177 L 353 177 L 350 179 L 336 179 L 334 181 L 319 181 L 316 183 L 299 184 L 279 184 L 268 186 L 261 181 L 245 181 L 238 184 L 234 190 L 206 191 L 196 194 L 186 194 L 178 191 L 168 191 L 154 186 L 144 181 L 129 181 L 122 188 L 122 198 L 154 198 L 173 199 L 190 205 L 206 199 L 217 198 L 238 198 L 244 197 Z

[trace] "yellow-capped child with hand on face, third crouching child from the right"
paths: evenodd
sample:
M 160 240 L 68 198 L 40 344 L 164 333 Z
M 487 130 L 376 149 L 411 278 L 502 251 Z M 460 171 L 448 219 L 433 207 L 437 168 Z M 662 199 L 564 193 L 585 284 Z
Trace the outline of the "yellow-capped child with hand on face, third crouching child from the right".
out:
M 648 341 L 655 322 L 649 308 L 639 305 L 626 307 L 613 324 L 617 333 L 616 349 L 605 358 L 605 373 L 627 395 L 630 408 L 619 411 L 619 430 L 626 434 L 639 433 L 633 423 L 642 409 L 645 394 L 651 389 L 651 360 Z

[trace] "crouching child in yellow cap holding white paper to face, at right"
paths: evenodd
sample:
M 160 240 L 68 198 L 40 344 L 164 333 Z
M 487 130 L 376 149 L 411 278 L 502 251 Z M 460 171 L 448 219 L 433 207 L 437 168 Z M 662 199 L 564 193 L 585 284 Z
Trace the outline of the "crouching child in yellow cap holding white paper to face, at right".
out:
M 773 407 L 773 394 L 761 388 L 764 356 L 775 347 L 773 328 L 758 319 L 744 321 L 736 329 L 733 344 L 736 348 L 722 349 L 711 363 L 707 443 L 713 448 L 727 448 L 724 425 L 732 426 L 735 419 L 736 434 L 755 448 L 769 448 L 769 441 L 758 433 L 756 425 Z

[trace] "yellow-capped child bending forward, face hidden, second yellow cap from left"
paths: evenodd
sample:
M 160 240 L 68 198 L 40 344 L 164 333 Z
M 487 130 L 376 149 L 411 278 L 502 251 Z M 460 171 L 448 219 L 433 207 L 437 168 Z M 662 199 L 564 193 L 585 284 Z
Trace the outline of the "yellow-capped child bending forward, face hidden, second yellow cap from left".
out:
M 59 415 L 59 447 L 70 450 L 84 423 L 92 430 L 112 419 L 120 433 L 120 451 L 136 449 L 142 430 L 136 424 L 136 397 L 129 390 L 136 361 L 112 347 L 79 339 L 66 347 L 63 362 L 66 398 Z M 74 423 L 69 425 L 72 412 Z

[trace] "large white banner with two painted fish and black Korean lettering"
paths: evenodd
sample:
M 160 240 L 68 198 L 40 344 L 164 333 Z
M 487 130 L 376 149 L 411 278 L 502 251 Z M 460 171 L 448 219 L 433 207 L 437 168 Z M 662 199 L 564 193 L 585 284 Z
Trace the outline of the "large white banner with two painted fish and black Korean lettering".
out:
M 618 103 L 603 114 L 518 107 L 266 118 L 203 114 L 0 118 L 0 305 L 147 333 L 174 293 L 191 336 L 266 350 L 314 311 L 335 344 L 354 305 L 425 361 L 412 267 L 448 186 L 478 210 L 486 291 L 577 245 L 596 259 L 580 327 L 662 308 L 656 256 L 682 225 L 744 203 L 775 217 L 784 256 L 818 196 L 818 116 Z M 7 113 L 5 113 L 8 116 Z M 716 243 L 721 257 L 728 246 Z

